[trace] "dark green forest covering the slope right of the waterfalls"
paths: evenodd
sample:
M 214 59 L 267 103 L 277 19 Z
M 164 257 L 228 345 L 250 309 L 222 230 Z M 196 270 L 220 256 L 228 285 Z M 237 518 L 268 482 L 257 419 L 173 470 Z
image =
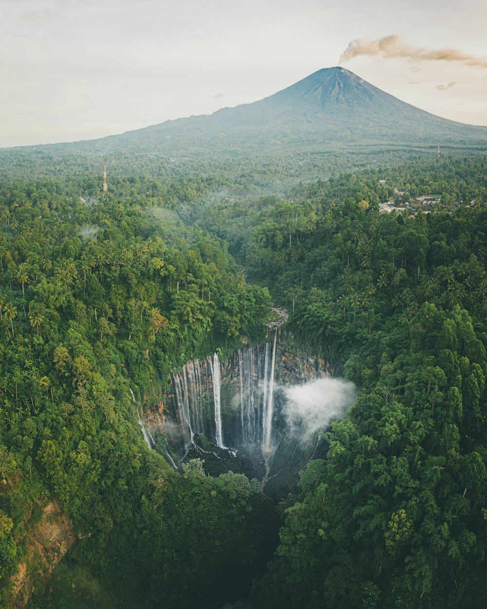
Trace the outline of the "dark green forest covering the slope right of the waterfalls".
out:
M 292 306 L 293 340 L 362 388 L 326 434 L 327 460 L 301 473 L 250 607 L 487 602 L 483 163 L 382 175 L 409 192 L 441 186 L 452 202 L 475 191 L 480 205 L 379 214 L 387 192 L 368 171 L 300 185 L 293 201 L 261 202 L 245 220 L 240 259 Z

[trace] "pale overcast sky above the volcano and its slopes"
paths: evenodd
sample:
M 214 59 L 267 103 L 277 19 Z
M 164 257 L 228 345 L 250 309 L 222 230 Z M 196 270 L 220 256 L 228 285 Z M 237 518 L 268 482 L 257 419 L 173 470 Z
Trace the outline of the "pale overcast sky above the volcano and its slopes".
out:
M 486 27 L 485 0 L 0 0 L 0 147 L 253 102 L 340 65 L 351 41 L 391 35 L 400 56 L 341 65 L 423 110 L 487 125 L 487 67 L 424 58 L 453 49 L 482 64 Z

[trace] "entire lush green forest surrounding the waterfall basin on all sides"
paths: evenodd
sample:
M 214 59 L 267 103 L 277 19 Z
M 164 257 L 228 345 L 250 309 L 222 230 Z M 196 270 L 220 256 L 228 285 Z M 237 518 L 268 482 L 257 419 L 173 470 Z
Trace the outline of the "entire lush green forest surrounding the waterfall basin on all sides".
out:
M 482 155 L 327 172 L 284 195 L 237 173 L 127 171 L 105 197 L 88 171 L 12 176 L 0 607 L 17 606 L 19 563 L 30 609 L 485 606 Z M 394 188 L 441 208 L 379 213 Z M 289 311 L 283 340 L 360 388 L 279 505 L 242 474 L 173 471 L 130 396 L 264 340 L 272 302 Z M 53 498 L 77 540 L 49 579 L 30 538 Z

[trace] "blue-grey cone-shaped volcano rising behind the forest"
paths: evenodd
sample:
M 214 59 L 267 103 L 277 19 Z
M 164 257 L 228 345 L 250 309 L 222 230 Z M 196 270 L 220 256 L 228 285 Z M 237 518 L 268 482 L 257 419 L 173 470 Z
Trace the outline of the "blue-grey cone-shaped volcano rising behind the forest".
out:
M 487 141 L 474 127 L 419 110 L 344 68 L 321 69 L 270 97 L 214 114 L 166 121 L 86 144 L 142 147 L 265 147 L 363 139 L 387 142 Z

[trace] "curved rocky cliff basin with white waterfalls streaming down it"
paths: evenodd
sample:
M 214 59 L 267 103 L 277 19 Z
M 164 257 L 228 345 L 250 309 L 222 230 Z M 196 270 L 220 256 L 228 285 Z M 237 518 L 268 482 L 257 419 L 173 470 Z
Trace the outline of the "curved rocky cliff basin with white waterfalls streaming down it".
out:
M 155 448 L 177 466 L 200 458 L 208 474 L 231 470 L 256 477 L 276 498 L 296 490 L 299 471 L 312 457 L 324 456 L 326 445 L 318 434 L 323 430 L 289 423 L 286 390 L 331 378 L 334 368 L 278 343 L 275 353 L 273 343 L 242 348 L 218 370 L 214 362 L 188 362 L 166 392 L 145 400 L 144 423 Z

